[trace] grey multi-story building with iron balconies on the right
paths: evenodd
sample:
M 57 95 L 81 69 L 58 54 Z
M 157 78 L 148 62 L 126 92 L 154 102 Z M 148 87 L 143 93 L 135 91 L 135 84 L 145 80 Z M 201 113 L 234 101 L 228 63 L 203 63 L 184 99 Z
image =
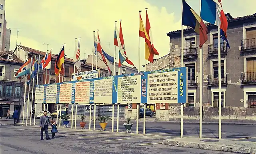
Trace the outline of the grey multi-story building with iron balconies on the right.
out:
M 256 14 L 228 20 L 227 43 L 221 39 L 222 107 L 256 107 Z M 218 107 L 218 29 L 206 24 L 208 41 L 203 53 L 203 103 Z M 169 32 L 170 67 L 181 66 L 181 30 Z M 184 65 L 188 68 L 188 103 L 199 105 L 199 36 L 184 29 Z

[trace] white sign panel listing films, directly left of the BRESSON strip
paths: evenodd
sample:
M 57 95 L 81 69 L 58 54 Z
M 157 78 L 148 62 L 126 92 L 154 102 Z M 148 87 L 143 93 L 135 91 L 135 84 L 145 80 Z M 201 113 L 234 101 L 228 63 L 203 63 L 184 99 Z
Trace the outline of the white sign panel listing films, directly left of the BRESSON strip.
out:
M 119 77 L 117 103 L 140 103 L 141 75 Z

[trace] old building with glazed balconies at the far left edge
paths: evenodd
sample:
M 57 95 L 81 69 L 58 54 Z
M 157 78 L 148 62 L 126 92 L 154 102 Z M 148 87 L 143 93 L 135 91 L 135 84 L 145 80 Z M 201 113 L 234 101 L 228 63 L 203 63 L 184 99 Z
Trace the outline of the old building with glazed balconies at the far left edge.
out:
M 22 115 L 25 79 L 16 79 L 15 73 L 23 63 L 12 51 L 0 52 L 0 116 L 6 116 L 8 109 Z

